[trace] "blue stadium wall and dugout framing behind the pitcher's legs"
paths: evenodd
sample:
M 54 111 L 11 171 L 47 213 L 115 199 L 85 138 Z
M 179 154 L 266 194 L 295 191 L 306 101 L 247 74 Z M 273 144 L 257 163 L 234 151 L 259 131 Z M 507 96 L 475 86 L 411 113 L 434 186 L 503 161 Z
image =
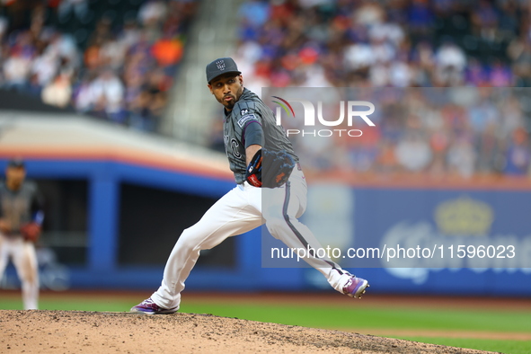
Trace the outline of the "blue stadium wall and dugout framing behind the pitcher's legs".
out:
M 4 171 L 6 160 L 0 160 Z M 123 182 L 158 189 L 184 191 L 217 199 L 234 187 L 231 181 L 175 173 L 115 161 L 27 160 L 33 179 L 85 179 L 88 181 L 87 261 L 69 266 L 67 288 L 148 289 L 160 285 L 163 266 L 123 266 L 118 262 L 119 185 Z M 531 235 L 531 191 L 527 190 L 404 190 L 352 188 L 357 207 L 352 215 L 356 235 L 385 238 L 393 226 L 437 227 L 434 210 L 448 200 L 469 198 L 490 206 L 494 234 Z M 377 222 L 374 222 L 377 220 Z M 146 247 L 156 243 L 146 235 Z M 332 291 L 319 272 L 308 268 L 262 268 L 261 230 L 235 237 L 235 267 L 198 266 L 187 281 L 188 290 L 201 291 Z M 167 250 L 169 254 L 171 250 Z M 528 253 L 529 254 L 529 253 Z M 165 261 L 165 260 L 164 260 Z M 13 271 L 13 270 L 12 270 Z M 371 292 L 530 296 L 531 269 L 420 268 L 351 270 L 369 279 Z M 14 276 L 11 274 L 11 276 Z

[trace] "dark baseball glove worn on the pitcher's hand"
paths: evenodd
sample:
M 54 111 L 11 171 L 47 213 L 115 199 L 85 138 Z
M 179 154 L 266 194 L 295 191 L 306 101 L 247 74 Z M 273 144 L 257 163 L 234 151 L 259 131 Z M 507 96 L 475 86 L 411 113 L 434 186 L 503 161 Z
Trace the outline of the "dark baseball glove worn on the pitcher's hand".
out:
M 285 150 L 260 149 L 247 166 L 245 180 L 254 187 L 277 188 L 286 183 L 295 161 Z

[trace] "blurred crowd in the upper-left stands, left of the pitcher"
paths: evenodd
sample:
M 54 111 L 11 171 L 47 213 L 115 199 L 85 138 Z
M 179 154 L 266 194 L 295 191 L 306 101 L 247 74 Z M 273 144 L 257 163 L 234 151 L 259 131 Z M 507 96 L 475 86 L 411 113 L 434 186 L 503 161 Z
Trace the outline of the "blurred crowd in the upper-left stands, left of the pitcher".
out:
M 12 0 L 1 6 L 0 87 L 155 130 L 196 4 L 128 1 Z M 112 11 L 113 4 L 121 7 Z

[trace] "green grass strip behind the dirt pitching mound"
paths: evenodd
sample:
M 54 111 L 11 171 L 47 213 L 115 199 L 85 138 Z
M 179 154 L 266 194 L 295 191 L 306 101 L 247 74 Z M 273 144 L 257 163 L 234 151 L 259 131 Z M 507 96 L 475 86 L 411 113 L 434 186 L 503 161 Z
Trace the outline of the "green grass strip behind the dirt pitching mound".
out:
M 136 305 L 138 296 L 61 296 L 54 299 L 44 296 L 40 300 L 43 310 L 77 311 L 128 311 Z M 2 296 L 1 309 L 21 309 L 19 296 Z M 305 327 L 342 330 L 434 330 L 434 331 L 488 331 L 488 332 L 531 332 L 531 309 L 528 311 L 489 312 L 480 310 L 434 309 L 418 307 L 392 308 L 386 306 L 355 305 L 345 308 L 338 305 L 281 305 L 242 302 L 224 303 L 221 300 L 187 298 L 181 312 L 196 314 L 216 314 L 241 319 L 300 325 Z M 497 341 L 480 339 L 389 336 L 410 341 L 477 350 L 500 351 L 508 354 L 531 352 L 531 341 Z

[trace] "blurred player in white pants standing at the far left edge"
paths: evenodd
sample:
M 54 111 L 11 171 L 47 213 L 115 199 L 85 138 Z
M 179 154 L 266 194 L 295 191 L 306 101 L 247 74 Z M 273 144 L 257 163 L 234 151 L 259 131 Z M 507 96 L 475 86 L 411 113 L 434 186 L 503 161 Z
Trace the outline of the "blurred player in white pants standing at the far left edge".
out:
M 37 309 L 39 302 L 39 270 L 35 242 L 44 218 L 42 199 L 36 184 L 24 181 L 26 170 L 22 160 L 13 159 L 5 169 L 5 182 L 0 183 L 0 278 L 9 259 L 22 282 L 25 310 Z

